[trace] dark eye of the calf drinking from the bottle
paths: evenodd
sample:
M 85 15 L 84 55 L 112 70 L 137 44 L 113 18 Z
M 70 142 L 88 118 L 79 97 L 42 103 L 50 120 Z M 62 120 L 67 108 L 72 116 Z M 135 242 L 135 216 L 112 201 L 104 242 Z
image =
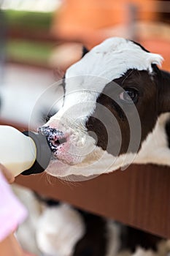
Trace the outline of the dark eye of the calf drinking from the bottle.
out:
M 125 91 L 121 92 L 119 97 L 123 102 L 136 103 L 138 101 L 139 94 L 136 89 L 125 89 Z

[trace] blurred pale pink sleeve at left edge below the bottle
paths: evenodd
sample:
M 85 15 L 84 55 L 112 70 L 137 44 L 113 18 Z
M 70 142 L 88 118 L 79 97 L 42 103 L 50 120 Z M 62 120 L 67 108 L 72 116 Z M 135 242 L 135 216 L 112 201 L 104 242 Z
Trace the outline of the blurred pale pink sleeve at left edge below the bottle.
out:
M 26 208 L 20 203 L 12 192 L 9 184 L 0 172 L 0 241 L 26 219 Z

